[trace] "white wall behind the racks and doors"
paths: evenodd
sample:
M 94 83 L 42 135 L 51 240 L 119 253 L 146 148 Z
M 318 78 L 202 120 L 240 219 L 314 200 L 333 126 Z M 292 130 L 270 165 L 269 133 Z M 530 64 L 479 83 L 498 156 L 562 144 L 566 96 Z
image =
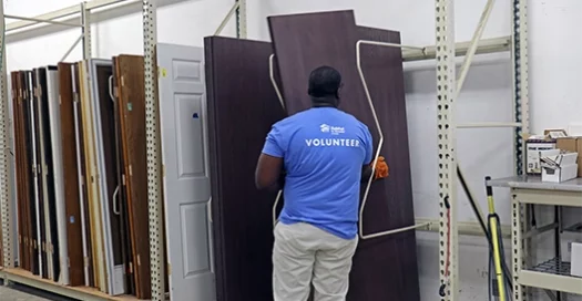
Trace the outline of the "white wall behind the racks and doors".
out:
M 10 14 L 34 15 L 79 3 L 79 0 L 4 0 Z M 233 0 L 160 1 L 159 41 L 202 45 L 213 34 Z M 456 37 L 470 40 L 486 0 L 456 1 Z M 582 42 L 576 34 L 582 25 L 580 0 L 530 0 L 530 102 L 534 132 L 545 127 L 566 127 L 582 122 L 582 102 L 578 100 L 578 68 Z M 268 40 L 265 17 L 269 14 L 354 9 L 359 24 L 401 31 L 402 42 L 428 45 L 435 41 L 435 3 L 432 0 L 248 0 L 248 35 Z M 110 58 L 120 53 L 143 53 L 141 2 L 115 12 L 98 13 L 93 27 L 93 55 Z M 80 30 L 35 31 L 9 38 L 9 70 L 54 64 L 79 37 Z M 510 0 L 498 0 L 484 38 L 510 34 Z M 35 37 L 39 33 L 49 33 Z M 225 35 L 234 35 L 234 22 Z M 338 33 L 340 34 L 340 33 Z M 70 61 L 81 58 L 81 49 Z M 411 147 L 415 210 L 417 217 L 437 218 L 437 132 L 436 75 L 433 62 L 405 64 L 407 115 Z M 570 68 L 570 69 L 569 69 Z M 511 70 L 509 53 L 477 59 L 469 72 L 457 108 L 457 121 L 509 122 L 512 117 Z M 564 110 L 565 108 L 565 110 Z M 486 208 L 483 177 L 512 174 L 512 129 L 460 129 L 459 162 L 469 184 Z M 385 154 L 388 155 L 389 154 Z M 497 207 L 502 222 L 509 225 L 509 195 L 497 190 Z M 474 220 L 462 194 L 459 220 Z M 418 236 L 422 300 L 438 293 L 438 238 L 436 233 Z M 461 238 L 461 300 L 487 300 L 487 248 L 483 238 Z M 510 246 L 509 241 L 506 242 Z

